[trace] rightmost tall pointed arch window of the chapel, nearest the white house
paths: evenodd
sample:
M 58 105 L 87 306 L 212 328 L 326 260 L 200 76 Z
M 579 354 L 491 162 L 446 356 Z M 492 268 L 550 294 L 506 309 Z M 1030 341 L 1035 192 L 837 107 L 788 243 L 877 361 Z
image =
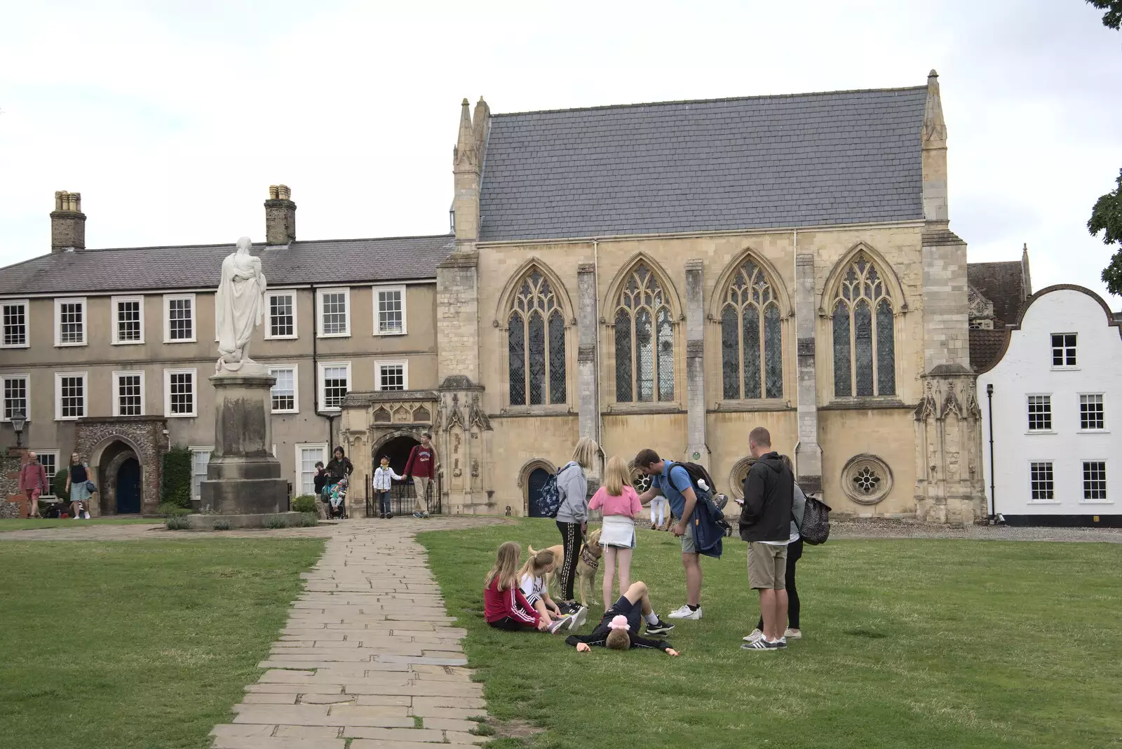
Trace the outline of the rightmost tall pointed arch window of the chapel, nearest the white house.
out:
M 849 262 L 834 298 L 834 395 L 896 394 L 895 315 L 883 274 L 864 252 Z

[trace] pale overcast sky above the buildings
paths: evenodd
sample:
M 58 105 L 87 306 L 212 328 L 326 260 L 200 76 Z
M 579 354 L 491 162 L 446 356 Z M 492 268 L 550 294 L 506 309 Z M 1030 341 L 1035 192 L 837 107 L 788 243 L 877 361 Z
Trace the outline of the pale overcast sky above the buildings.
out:
M 1036 288 L 1105 294 L 1085 224 L 1122 168 L 1122 34 L 1082 0 L 381 4 L 0 0 L 0 265 L 49 251 L 56 189 L 82 193 L 91 248 L 260 241 L 277 183 L 302 239 L 443 233 L 465 96 L 516 112 L 934 67 L 971 260 L 1028 243 Z

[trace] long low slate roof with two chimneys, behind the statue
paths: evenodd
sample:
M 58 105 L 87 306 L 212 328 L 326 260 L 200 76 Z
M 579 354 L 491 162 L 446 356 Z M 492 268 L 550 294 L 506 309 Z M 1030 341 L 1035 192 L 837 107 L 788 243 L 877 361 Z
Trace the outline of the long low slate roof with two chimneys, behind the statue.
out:
M 270 287 L 436 277 L 454 249 L 451 234 L 254 244 Z M 231 244 L 138 247 L 56 252 L 0 269 L 0 295 L 84 294 L 218 287 Z

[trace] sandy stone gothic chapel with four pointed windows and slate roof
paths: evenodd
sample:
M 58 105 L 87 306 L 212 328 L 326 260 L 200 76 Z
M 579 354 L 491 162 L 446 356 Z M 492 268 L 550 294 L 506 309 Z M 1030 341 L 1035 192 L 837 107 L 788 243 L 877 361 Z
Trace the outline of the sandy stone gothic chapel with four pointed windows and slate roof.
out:
M 426 396 L 444 512 L 532 512 L 581 436 L 705 463 L 738 497 L 765 426 L 835 511 L 984 514 L 935 71 L 512 114 L 465 100 L 452 164 Z M 351 454 L 377 406 L 343 405 Z

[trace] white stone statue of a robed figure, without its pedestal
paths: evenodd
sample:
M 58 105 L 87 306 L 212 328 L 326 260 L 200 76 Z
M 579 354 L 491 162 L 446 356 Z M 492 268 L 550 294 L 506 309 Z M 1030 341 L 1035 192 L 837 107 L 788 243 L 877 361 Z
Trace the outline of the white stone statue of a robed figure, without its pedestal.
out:
M 249 339 L 265 314 L 265 274 L 261 259 L 249 253 L 251 244 L 248 237 L 242 237 L 238 251 L 222 260 L 222 280 L 214 295 L 219 354 L 215 373 L 240 372 L 243 364 L 257 364 L 249 358 Z

